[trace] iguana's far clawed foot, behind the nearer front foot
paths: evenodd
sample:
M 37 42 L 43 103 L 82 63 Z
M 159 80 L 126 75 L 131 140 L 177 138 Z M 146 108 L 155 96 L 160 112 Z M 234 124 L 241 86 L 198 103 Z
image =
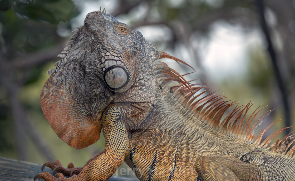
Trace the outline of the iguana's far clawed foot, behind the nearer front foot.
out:
M 72 162 L 68 164 L 68 168 L 65 168 L 63 165 L 61 165 L 59 160 L 44 163 L 41 167 L 42 171 L 45 166 L 53 170 L 53 175 L 55 175 L 57 172 L 62 173 L 65 176 L 72 176 L 74 174 L 78 175 L 82 170 L 82 167 L 74 167 Z

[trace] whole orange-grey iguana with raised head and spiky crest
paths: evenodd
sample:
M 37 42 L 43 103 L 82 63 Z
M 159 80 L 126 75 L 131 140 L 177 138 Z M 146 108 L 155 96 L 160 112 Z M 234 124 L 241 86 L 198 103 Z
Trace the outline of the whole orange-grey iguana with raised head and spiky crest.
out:
M 47 162 L 42 170 L 56 177 L 34 180 L 108 180 L 123 161 L 148 181 L 295 180 L 294 132 L 269 145 L 284 128 L 260 143 L 269 127 L 254 135 L 269 111 L 246 119 L 252 103 L 239 106 L 186 81 L 158 59 L 183 61 L 104 10 L 89 13 L 58 56 L 41 93 L 45 118 L 78 149 L 103 130 L 106 148 L 81 168 Z

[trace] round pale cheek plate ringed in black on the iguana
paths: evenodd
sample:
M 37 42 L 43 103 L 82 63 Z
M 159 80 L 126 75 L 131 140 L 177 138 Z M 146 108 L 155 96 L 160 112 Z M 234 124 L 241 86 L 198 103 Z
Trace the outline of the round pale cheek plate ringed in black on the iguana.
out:
M 128 83 L 126 71 L 122 67 L 111 67 L 104 73 L 104 81 L 113 90 L 122 88 Z

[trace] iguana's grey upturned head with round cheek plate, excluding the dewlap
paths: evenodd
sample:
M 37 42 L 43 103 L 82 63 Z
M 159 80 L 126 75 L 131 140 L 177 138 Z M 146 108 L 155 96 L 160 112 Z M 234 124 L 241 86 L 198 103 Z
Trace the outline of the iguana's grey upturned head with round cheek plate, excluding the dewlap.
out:
M 103 11 L 89 13 L 84 28 L 91 32 L 96 63 L 106 86 L 114 92 L 129 89 L 135 78 L 142 34 Z

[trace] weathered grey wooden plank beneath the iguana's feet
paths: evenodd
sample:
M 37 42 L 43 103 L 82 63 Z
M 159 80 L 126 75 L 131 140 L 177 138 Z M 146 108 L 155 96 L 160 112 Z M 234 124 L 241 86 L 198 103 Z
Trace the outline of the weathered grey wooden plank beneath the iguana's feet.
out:
M 52 173 L 52 170 L 47 167 L 43 171 Z M 1 181 L 32 181 L 34 176 L 40 172 L 42 172 L 40 164 L 0 157 Z M 127 177 L 111 177 L 109 180 L 138 181 Z

